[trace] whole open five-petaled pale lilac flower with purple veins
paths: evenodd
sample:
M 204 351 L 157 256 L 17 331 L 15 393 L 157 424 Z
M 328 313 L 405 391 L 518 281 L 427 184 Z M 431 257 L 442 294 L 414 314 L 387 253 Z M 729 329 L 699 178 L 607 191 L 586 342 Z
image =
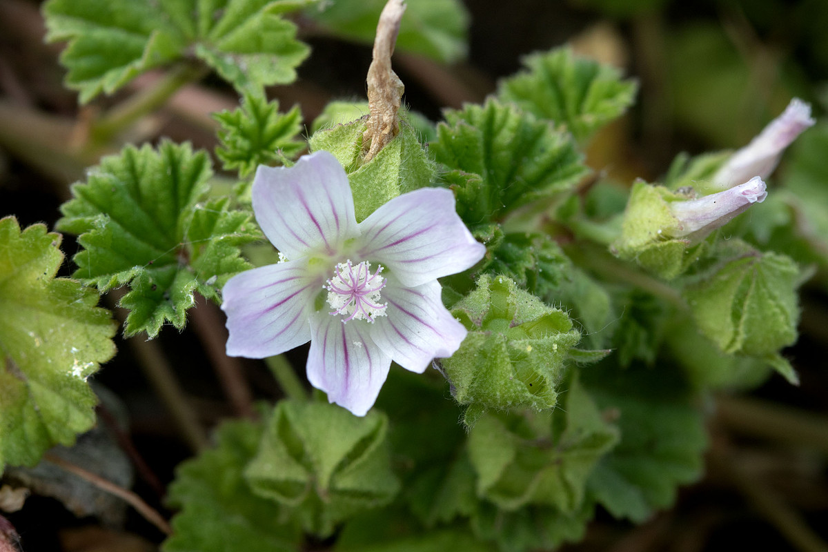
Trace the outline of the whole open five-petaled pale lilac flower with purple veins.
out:
M 436 279 L 473 266 L 485 247 L 450 190 L 402 194 L 357 223 L 348 176 L 317 151 L 290 168 L 259 166 L 253 212 L 284 261 L 224 286 L 229 355 L 265 358 L 310 340 L 311 385 L 365 415 L 392 360 L 423 372 L 460 347 L 466 330 Z

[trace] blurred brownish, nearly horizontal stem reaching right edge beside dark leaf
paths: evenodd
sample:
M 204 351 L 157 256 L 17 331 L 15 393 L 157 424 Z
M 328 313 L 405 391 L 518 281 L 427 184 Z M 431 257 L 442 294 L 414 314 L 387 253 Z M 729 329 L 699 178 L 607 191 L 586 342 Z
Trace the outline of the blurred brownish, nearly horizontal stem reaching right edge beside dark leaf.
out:
M 815 449 L 828 457 L 828 417 L 824 415 L 723 395 L 716 399 L 716 416 L 739 433 Z

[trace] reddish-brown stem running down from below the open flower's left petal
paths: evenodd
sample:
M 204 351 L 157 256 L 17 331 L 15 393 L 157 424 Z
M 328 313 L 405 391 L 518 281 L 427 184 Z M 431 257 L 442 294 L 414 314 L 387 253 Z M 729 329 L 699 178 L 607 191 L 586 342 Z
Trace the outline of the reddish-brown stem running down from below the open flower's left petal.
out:
M 224 394 L 229 398 L 236 414 L 244 418 L 256 417 L 253 408 L 253 393 L 248 382 L 244 379 L 244 367 L 238 358 L 228 357 L 224 352 L 224 343 L 227 343 L 227 332 L 224 324 L 216 312 L 215 305 L 198 295 L 193 313 L 193 329 L 199 336 L 201 344 L 213 364 L 216 376 L 219 377 Z

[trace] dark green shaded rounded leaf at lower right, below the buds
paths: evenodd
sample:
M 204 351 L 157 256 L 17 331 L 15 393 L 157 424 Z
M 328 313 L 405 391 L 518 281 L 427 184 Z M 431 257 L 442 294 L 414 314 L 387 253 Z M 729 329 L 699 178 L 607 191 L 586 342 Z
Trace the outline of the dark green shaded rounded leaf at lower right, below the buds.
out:
M 588 487 L 609 513 L 638 523 L 672 505 L 677 488 L 698 479 L 707 445 L 695 397 L 668 366 L 619 370 L 603 362 L 581 372 L 606 415 L 617 417 L 621 440 L 590 474 Z

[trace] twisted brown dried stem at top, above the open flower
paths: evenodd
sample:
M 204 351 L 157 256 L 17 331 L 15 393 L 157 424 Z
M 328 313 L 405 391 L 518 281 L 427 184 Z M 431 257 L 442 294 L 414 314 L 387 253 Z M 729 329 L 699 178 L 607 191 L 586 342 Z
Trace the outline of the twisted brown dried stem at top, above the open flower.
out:
M 368 162 L 400 131 L 397 112 L 405 86 L 391 68 L 400 20 L 406 7 L 402 0 L 388 0 L 379 16 L 373 42 L 373 61 L 368 67 L 368 128 L 363 133 L 364 161 Z M 366 151 L 367 150 L 367 151 Z

